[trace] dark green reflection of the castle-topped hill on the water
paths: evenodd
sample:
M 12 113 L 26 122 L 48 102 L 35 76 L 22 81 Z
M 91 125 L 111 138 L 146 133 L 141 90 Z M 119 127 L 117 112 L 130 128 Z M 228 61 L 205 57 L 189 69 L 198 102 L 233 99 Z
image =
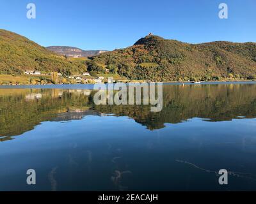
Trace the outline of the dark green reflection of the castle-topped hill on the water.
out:
M 163 110 L 149 112 L 147 106 L 97 106 L 95 110 L 127 115 L 149 129 L 164 123 L 179 123 L 193 117 L 223 121 L 256 117 L 255 85 L 174 85 L 163 89 Z

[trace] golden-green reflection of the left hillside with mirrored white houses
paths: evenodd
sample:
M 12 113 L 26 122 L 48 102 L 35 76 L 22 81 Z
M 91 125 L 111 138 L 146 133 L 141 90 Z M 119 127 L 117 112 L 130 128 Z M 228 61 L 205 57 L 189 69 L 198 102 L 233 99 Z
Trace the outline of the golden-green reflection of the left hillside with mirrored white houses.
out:
M 78 110 L 79 115 L 86 115 L 92 107 L 92 99 L 88 94 L 90 92 L 61 89 L 0 89 L 0 136 L 20 135 L 43 121 L 61 120 L 61 117 L 63 120 L 72 120 Z M 92 111 L 88 114 L 92 115 Z

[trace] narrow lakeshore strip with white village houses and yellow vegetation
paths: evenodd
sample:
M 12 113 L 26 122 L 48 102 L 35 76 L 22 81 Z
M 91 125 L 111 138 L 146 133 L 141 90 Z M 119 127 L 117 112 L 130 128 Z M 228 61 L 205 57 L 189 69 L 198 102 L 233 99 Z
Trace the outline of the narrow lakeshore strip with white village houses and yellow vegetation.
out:
M 5 82 L 1 80 L 5 79 Z M 253 78 L 247 78 L 247 81 L 255 81 Z M 246 81 L 237 80 L 237 81 Z M 228 78 L 226 82 L 234 82 L 234 78 Z M 90 73 L 88 71 L 77 75 L 63 75 L 60 72 L 41 72 L 38 70 L 25 70 L 22 75 L 0 75 L 0 85 L 52 85 L 52 84 L 112 84 L 112 83 L 150 83 L 150 80 L 128 80 L 125 77 L 111 75 L 106 69 L 105 73 Z M 177 81 L 182 84 L 202 84 L 204 81 L 188 80 Z M 218 82 L 218 81 L 215 81 Z M 221 81 L 220 81 L 221 82 Z M 222 81 L 223 82 L 223 81 Z

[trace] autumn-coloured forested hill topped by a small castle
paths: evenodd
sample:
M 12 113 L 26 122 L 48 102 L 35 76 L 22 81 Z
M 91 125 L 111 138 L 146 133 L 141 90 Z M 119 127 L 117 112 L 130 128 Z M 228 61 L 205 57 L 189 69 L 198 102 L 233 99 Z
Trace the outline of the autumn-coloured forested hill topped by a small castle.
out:
M 252 79 L 256 77 L 256 43 L 194 45 L 148 35 L 132 47 L 93 57 L 88 69 L 102 68 L 154 81 Z

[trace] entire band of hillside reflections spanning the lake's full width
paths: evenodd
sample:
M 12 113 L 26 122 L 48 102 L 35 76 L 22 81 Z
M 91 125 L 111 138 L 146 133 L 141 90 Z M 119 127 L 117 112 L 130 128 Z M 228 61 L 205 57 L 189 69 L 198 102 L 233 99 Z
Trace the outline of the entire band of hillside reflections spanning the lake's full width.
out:
M 90 90 L 0 89 L 1 141 L 33 129 L 43 121 L 79 120 L 100 113 L 128 116 L 148 129 L 164 128 L 193 117 L 208 121 L 256 117 L 256 85 L 166 85 L 163 110 L 150 106 L 93 104 Z

